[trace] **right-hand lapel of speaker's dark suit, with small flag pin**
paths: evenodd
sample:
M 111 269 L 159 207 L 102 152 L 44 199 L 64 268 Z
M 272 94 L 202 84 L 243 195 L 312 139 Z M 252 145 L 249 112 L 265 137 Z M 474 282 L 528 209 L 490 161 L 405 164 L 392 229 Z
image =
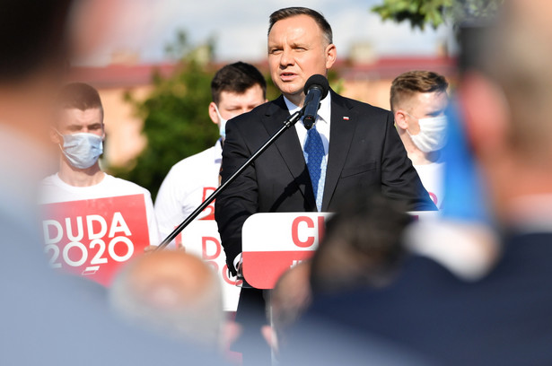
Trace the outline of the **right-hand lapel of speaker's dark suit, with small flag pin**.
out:
M 358 116 L 346 100 L 331 91 L 331 122 L 329 127 L 329 158 L 322 198 L 322 211 L 327 211 L 331 197 L 337 187 L 341 170 L 345 165 L 349 147 L 355 135 Z

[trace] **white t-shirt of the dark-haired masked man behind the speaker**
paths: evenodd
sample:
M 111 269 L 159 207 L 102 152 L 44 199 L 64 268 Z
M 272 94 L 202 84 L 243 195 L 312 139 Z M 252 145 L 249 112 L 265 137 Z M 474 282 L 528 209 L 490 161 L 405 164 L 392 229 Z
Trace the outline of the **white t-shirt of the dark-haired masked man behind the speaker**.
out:
M 176 163 L 159 188 L 155 216 L 162 239 L 183 222 L 219 186 L 223 146 L 215 146 Z M 199 213 L 197 220 L 215 220 L 215 203 Z

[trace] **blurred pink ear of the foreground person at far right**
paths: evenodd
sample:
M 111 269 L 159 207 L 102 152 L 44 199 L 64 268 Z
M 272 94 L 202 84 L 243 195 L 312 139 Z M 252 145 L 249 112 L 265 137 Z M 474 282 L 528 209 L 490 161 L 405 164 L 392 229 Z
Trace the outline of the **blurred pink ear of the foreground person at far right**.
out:
M 504 154 L 510 112 L 502 89 L 482 74 L 469 73 L 460 84 L 459 95 L 474 152 L 481 158 Z

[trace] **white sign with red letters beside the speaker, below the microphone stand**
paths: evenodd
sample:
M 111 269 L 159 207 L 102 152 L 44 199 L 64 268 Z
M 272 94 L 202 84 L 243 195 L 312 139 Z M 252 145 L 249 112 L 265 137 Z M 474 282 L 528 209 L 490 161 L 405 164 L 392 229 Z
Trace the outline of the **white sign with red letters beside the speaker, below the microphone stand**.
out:
M 240 290 L 236 277 L 228 274 L 226 256 L 224 255 L 218 227 L 214 220 L 197 220 L 191 222 L 176 239 L 176 244 L 187 253 L 203 258 L 209 266 L 215 268 L 223 290 L 223 309 L 236 311 Z

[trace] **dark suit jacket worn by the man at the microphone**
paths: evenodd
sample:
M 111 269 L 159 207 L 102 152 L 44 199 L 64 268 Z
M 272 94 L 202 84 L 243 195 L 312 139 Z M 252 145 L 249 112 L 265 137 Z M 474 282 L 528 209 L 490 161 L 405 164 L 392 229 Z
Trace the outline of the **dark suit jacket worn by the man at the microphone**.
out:
M 221 175 L 240 168 L 289 117 L 285 100 L 267 102 L 226 125 Z M 409 210 L 435 210 L 388 110 L 331 92 L 329 160 L 322 211 L 355 192 L 379 191 Z M 228 267 L 241 253 L 241 226 L 253 213 L 316 211 L 311 178 L 294 127 L 288 129 L 215 202 Z

